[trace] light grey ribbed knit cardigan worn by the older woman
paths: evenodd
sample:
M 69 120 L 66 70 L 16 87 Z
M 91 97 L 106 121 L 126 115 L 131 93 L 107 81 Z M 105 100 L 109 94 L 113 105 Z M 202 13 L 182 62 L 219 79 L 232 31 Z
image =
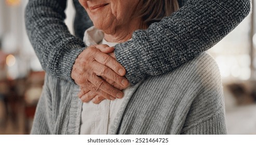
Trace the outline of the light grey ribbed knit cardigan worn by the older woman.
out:
M 79 87 L 46 75 L 31 134 L 79 134 Z M 222 82 L 206 52 L 131 87 L 110 134 L 226 134 Z

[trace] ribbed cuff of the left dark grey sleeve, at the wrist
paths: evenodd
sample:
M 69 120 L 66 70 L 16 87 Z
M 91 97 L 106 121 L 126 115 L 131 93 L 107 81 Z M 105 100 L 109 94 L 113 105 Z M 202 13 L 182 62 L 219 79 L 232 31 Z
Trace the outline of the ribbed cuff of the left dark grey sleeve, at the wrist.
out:
M 70 50 L 67 50 L 62 57 L 62 61 L 60 63 L 60 67 L 61 68 L 61 73 L 62 73 L 62 77 L 65 80 L 68 80 L 70 82 L 72 82 L 73 84 L 76 84 L 75 81 L 71 78 L 71 72 L 72 72 L 72 68 L 73 65 L 75 63 L 75 60 L 77 58 L 77 56 L 85 49 L 85 48 L 81 48 L 80 45 L 70 45 L 67 46 L 66 48 L 73 48 Z M 76 49 L 74 49 L 76 48 Z

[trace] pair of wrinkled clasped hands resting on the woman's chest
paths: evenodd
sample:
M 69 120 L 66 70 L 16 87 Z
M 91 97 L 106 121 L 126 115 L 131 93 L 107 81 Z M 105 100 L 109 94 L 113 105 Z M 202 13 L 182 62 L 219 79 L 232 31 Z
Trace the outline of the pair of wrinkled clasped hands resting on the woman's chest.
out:
M 115 59 L 114 48 L 94 45 L 80 53 L 73 65 L 71 77 L 80 87 L 78 97 L 83 102 L 99 104 L 103 99 L 124 96 L 129 86 L 125 68 Z

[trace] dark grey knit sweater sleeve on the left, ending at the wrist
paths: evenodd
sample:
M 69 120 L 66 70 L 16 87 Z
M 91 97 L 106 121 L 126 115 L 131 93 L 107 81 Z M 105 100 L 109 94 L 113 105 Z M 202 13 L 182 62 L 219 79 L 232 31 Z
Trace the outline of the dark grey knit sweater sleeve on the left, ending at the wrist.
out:
M 66 1 L 31 0 L 25 9 L 25 25 L 43 69 L 72 81 L 71 71 L 84 42 L 71 35 L 64 23 Z

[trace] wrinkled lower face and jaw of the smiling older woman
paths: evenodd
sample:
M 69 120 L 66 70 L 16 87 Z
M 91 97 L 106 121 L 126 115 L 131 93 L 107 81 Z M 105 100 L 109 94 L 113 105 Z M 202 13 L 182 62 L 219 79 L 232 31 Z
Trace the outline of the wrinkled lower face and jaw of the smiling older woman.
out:
M 133 18 L 134 10 L 140 0 L 95 0 L 83 1 L 83 5 L 93 25 L 105 34 L 109 42 L 125 42 L 132 33 L 142 28 L 142 20 Z

